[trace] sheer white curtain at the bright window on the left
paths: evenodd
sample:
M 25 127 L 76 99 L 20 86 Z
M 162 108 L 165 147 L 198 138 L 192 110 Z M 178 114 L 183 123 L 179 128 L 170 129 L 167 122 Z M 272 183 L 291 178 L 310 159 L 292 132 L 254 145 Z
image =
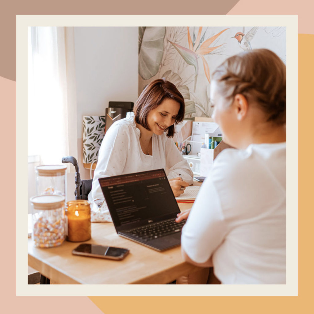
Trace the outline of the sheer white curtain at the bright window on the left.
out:
M 78 155 L 74 29 L 28 32 L 28 155 L 61 164 L 63 156 Z

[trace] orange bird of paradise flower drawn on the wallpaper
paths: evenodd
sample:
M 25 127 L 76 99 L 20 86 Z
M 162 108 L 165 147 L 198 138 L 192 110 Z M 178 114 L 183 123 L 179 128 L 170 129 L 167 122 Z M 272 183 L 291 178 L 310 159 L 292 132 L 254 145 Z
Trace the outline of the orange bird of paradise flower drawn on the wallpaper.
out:
M 170 41 L 171 44 L 179 52 L 181 57 L 184 59 L 184 61 L 187 62 L 187 64 L 194 66 L 195 68 L 194 92 L 196 89 L 196 82 L 197 82 L 197 76 L 198 76 L 198 58 L 200 57 L 203 61 L 204 72 L 205 72 L 208 82 L 210 83 L 209 66 L 204 56 L 208 55 L 210 52 L 214 51 L 215 49 L 225 44 L 223 43 L 219 46 L 209 47 L 213 43 L 213 41 L 215 41 L 223 32 L 229 29 L 229 28 L 226 28 L 225 30 L 222 30 L 218 34 L 204 41 L 204 36 L 205 36 L 206 31 L 201 38 L 202 28 L 203 27 L 199 27 L 196 41 L 195 43 L 193 43 L 191 35 L 190 35 L 189 27 L 187 27 L 187 40 L 188 40 L 189 48 L 185 48 L 183 46 L 180 46 Z

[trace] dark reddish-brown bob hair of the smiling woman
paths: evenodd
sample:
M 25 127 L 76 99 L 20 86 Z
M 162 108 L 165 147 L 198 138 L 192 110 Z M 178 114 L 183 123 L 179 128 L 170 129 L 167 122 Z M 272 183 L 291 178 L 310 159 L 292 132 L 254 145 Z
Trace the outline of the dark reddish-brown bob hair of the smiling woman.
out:
M 176 116 L 175 124 L 183 121 L 184 118 L 184 98 L 176 86 L 165 78 L 159 78 L 150 82 L 139 95 L 134 105 L 135 122 L 149 130 L 147 116 L 149 112 L 157 108 L 165 99 L 176 100 L 180 104 L 179 113 Z M 149 130 L 150 131 L 150 130 Z M 174 125 L 166 129 L 167 137 L 173 137 L 175 133 Z

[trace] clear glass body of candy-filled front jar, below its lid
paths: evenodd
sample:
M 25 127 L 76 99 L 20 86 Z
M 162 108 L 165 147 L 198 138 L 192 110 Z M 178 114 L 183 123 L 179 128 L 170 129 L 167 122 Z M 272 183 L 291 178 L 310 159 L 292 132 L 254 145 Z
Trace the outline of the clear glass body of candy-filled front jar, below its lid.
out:
M 65 240 L 64 205 L 57 209 L 32 208 L 32 241 L 37 247 L 59 246 Z

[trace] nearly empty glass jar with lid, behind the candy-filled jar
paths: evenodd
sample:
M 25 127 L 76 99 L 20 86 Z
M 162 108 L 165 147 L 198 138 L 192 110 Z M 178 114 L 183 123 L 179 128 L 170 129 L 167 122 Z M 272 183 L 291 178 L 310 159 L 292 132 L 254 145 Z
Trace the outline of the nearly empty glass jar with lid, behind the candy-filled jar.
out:
M 66 198 L 66 165 L 36 167 L 36 195 L 62 195 Z

